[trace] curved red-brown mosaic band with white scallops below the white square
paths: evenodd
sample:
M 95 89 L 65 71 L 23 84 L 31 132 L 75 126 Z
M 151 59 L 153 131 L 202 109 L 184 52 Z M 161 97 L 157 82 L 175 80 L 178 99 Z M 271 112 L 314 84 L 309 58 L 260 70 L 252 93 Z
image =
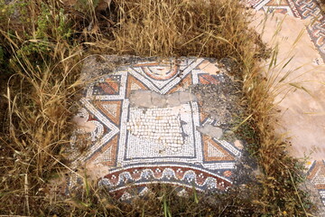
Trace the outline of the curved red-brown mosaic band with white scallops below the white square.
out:
M 185 187 L 196 186 L 206 190 L 226 190 L 231 183 L 218 175 L 211 175 L 208 171 L 198 170 L 190 166 L 145 166 L 125 167 L 122 171 L 111 171 L 99 181 L 99 185 L 114 189 L 113 192 L 124 190 L 132 183 L 135 186 L 144 184 L 178 184 Z

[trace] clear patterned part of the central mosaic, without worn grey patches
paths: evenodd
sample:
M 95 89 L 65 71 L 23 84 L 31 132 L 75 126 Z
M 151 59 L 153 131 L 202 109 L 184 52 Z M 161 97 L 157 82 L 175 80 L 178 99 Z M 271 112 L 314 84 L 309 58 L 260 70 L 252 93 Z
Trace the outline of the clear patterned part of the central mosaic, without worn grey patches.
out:
M 201 69 L 201 64 L 210 61 L 140 61 L 119 67 L 91 84 L 80 99 L 83 117 L 96 121 L 103 130 L 74 165 L 107 165 L 103 167 L 107 175 L 99 184 L 109 187 L 111 193 L 154 183 L 195 186 L 199 191 L 227 189 L 240 150 L 197 130 L 209 117 L 201 112 L 196 99 L 171 108 L 136 108 L 130 103 L 134 90 L 161 96 L 189 90 L 192 85 L 218 85 L 227 75 L 220 72 L 217 78 Z

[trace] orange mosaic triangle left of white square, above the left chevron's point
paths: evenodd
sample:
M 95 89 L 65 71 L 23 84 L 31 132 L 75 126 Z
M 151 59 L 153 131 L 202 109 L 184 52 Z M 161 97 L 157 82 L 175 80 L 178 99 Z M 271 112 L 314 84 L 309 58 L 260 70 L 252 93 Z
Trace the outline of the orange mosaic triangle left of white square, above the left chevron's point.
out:
M 121 100 L 94 101 L 94 105 L 116 124 L 116 126 L 120 124 L 121 103 Z

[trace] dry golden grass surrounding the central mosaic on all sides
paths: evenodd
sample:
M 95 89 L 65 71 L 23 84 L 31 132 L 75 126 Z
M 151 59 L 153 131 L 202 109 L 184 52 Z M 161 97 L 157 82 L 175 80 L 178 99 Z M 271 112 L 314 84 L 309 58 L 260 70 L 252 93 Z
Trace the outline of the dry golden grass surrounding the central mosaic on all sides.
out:
M 247 28 L 249 14 L 238 1 L 116 0 L 110 10 L 102 12 L 105 15 L 96 14 L 91 1 L 85 1 L 88 14 L 73 8 L 61 11 L 62 5 L 56 1 L 25 2 L 20 17 L 2 19 L 0 24 L 5 58 L 11 60 L 2 68 L 12 71 L 3 79 L 7 85 L 2 86 L 6 113 L 0 147 L 0 214 L 302 216 L 311 212 L 305 194 L 295 187 L 301 172 L 297 161 L 284 154 L 286 144 L 274 136 L 274 98 L 258 68 L 258 60 L 267 55 L 265 46 Z M 28 18 L 23 11 L 30 14 Z M 65 170 L 62 152 L 69 144 L 79 61 L 85 52 L 236 61 L 234 74 L 242 80 L 243 104 L 250 117 L 237 134 L 251 144 L 263 171 L 260 184 L 212 199 L 222 203 L 208 199 L 198 203 L 195 198 L 184 202 L 165 196 L 172 195 L 172 190 L 158 189 L 160 200 L 140 201 L 144 206 L 125 204 L 88 185 L 68 201 L 55 193 L 51 197 L 55 199 L 49 199 L 46 184 Z

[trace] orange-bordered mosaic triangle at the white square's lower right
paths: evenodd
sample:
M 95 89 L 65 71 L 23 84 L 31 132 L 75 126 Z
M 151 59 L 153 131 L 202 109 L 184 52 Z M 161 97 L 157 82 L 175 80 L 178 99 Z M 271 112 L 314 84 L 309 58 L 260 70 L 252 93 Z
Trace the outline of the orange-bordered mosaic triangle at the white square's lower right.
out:
M 212 137 L 203 136 L 204 159 L 206 161 L 233 161 L 235 157 Z

